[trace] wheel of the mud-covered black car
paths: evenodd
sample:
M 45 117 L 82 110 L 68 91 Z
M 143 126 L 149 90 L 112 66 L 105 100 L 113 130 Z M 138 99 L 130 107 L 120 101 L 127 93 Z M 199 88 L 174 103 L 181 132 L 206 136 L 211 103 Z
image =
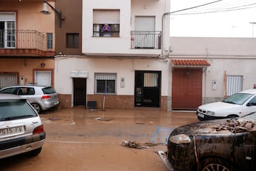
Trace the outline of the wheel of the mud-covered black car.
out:
M 235 167 L 230 165 L 230 162 L 220 159 L 218 157 L 209 157 L 200 162 L 201 171 L 236 171 Z

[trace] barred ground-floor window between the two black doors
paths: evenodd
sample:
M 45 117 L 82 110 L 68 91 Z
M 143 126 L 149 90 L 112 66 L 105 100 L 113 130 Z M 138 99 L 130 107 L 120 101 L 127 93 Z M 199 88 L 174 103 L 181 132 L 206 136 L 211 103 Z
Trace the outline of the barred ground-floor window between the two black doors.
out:
M 116 93 L 116 73 L 95 73 L 96 93 Z

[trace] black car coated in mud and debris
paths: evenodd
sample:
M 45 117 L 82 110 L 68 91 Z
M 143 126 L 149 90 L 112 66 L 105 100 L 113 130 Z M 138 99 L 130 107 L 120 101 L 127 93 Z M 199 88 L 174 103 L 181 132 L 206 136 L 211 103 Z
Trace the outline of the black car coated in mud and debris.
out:
M 256 170 L 256 113 L 174 129 L 167 158 L 177 171 Z

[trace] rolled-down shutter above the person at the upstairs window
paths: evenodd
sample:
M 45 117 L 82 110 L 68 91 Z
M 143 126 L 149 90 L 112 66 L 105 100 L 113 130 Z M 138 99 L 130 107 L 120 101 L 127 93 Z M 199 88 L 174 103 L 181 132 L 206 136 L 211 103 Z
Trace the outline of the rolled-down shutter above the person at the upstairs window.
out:
M 93 10 L 93 24 L 119 24 L 119 10 Z

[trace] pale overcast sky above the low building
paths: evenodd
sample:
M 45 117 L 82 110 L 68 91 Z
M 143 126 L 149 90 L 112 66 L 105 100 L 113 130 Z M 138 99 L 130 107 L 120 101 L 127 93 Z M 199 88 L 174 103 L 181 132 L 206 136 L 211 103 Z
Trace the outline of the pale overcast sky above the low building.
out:
M 170 36 L 256 37 L 256 0 L 171 0 L 171 13 Z

